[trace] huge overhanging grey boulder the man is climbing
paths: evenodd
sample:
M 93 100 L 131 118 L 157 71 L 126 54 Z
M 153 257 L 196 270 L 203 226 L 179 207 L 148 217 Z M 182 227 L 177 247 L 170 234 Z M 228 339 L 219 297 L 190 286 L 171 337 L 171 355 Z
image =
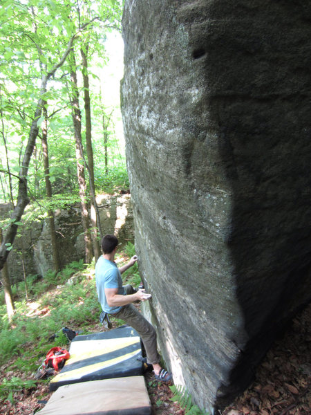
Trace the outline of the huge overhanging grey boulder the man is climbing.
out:
M 304 1 L 128 0 L 135 243 L 167 365 L 227 405 L 311 298 Z

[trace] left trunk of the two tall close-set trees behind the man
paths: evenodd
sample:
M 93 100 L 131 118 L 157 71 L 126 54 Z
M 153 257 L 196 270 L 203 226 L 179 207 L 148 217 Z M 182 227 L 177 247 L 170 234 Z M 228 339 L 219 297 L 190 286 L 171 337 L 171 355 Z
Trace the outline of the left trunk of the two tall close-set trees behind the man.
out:
M 70 52 L 71 68 L 70 68 L 70 80 L 71 80 L 71 107 L 73 116 L 73 128 L 75 131 L 75 158 L 77 160 L 77 178 L 79 182 L 79 196 L 81 203 L 81 215 L 82 226 L 84 230 L 84 244 L 85 244 L 85 261 L 86 264 L 91 264 L 92 253 L 92 241 L 89 230 L 89 218 L 88 218 L 88 205 L 86 202 L 86 181 L 84 176 L 83 165 L 83 147 L 82 147 L 82 135 L 81 135 L 81 111 L 79 108 L 79 91 L 77 88 L 77 72 L 75 64 L 75 53 L 72 49 Z

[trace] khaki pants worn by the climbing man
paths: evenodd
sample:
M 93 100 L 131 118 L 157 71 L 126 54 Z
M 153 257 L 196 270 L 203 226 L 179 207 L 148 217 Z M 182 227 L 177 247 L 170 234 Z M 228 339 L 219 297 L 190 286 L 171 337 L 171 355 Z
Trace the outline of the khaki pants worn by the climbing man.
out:
M 124 289 L 126 294 L 135 293 L 131 285 L 124 286 Z M 133 327 L 133 329 L 138 332 L 144 344 L 144 349 L 146 349 L 148 363 L 155 365 L 160 362 L 160 355 L 157 349 L 156 330 L 153 329 L 153 326 L 144 318 L 138 309 L 133 306 L 133 304 L 122 306 L 120 311 L 113 314 L 113 317 L 124 320 L 126 324 L 129 324 L 129 326 Z

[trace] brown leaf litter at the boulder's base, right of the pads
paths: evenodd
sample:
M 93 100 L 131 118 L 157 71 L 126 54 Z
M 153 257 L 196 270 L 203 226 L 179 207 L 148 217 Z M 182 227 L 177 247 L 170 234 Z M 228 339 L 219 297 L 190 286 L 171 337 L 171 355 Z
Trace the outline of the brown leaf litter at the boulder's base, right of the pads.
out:
M 148 382 L 147 378 L 147 385 Z M 153 415 L 185 415 L 184 409 L 171 402 L 167 385 L 152 383 L 148 389 Z M 274 342 L 257 368 L 252 385 L 219 415 L 310 414 L 311 304 Z

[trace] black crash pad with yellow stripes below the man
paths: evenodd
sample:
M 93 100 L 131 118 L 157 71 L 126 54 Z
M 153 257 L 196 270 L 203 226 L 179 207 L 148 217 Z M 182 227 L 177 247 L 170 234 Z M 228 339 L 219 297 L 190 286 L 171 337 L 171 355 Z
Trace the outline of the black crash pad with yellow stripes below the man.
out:
M 101 333 L 77 335 L 70 358 L 50 381 L 50 390 L 71 383 L 142 375 L 140 337 L 129 326 Z

